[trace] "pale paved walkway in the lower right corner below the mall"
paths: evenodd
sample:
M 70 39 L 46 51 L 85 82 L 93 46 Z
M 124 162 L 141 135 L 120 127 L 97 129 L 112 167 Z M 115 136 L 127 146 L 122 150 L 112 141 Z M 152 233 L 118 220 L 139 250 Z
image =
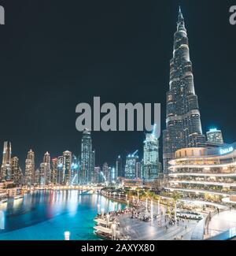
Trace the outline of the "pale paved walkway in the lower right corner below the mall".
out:
M 208 236 L 216 236 L 221 232 L 230 228 L 236 227 L 236 210 L 227 210 L 216 214 L 212 217 L 212 221 L 209 222 Z

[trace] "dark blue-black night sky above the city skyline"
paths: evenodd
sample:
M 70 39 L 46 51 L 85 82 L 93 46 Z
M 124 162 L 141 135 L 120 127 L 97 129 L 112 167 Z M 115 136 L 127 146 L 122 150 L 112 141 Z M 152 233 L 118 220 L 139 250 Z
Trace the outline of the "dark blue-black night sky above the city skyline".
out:
M 222 128 L 236 140 L 235 1 L 6 0 L 0 27 L 0 144 L 10 140 L 24 169 L 27 151 L 36 162 L 48 150 L 80 152 L 76 105 L 160 102 L 165 94 L 178 6 L 190 39 L 195 90 L 203 131 Z M 143 132 L 94 132 L 97 165 L 117 154 L 142 150 Z M 162 138 L 161 138 L 162 139 Z M 161 140 L 160 139 L 160 140 Z M 2 147 L 2 146 L 1 146 Z

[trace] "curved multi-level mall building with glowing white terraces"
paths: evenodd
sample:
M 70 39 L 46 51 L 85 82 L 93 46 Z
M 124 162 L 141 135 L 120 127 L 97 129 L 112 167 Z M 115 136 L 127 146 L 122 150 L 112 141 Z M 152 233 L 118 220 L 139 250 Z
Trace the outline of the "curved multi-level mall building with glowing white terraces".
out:
M 236 203 L 236 143 L 177 150 L 169 161 L 168 192 L 181 198 Z

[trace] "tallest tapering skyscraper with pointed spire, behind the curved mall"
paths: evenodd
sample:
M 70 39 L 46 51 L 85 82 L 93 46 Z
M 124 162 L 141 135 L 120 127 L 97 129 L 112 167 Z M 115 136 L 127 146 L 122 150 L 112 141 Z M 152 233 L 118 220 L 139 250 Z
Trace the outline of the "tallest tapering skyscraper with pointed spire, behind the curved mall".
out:
M 180 8 L 174 35 L 173 58 L 170 61 L 166 110 L 166 130 L 163 132 L 164 173 L 168 173 L 168 161 L 175 157 L 176 150 L 205 145 L 197 95 L 194 91 L 189 43 Z

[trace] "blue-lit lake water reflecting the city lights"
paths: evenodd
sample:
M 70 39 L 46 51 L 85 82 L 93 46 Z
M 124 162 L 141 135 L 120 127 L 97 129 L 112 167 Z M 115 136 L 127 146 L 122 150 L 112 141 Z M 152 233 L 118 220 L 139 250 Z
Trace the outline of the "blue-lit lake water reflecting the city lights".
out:
M 119 202 L 81 191 L 37 191 L 1 203 L 5 229 L 0 230 L 0 240 L 60 240 L 65 231 L 70 232 L 70 239 L 98 239 L 93 229 L 98 205 L 105 212 L 124 208 Z

